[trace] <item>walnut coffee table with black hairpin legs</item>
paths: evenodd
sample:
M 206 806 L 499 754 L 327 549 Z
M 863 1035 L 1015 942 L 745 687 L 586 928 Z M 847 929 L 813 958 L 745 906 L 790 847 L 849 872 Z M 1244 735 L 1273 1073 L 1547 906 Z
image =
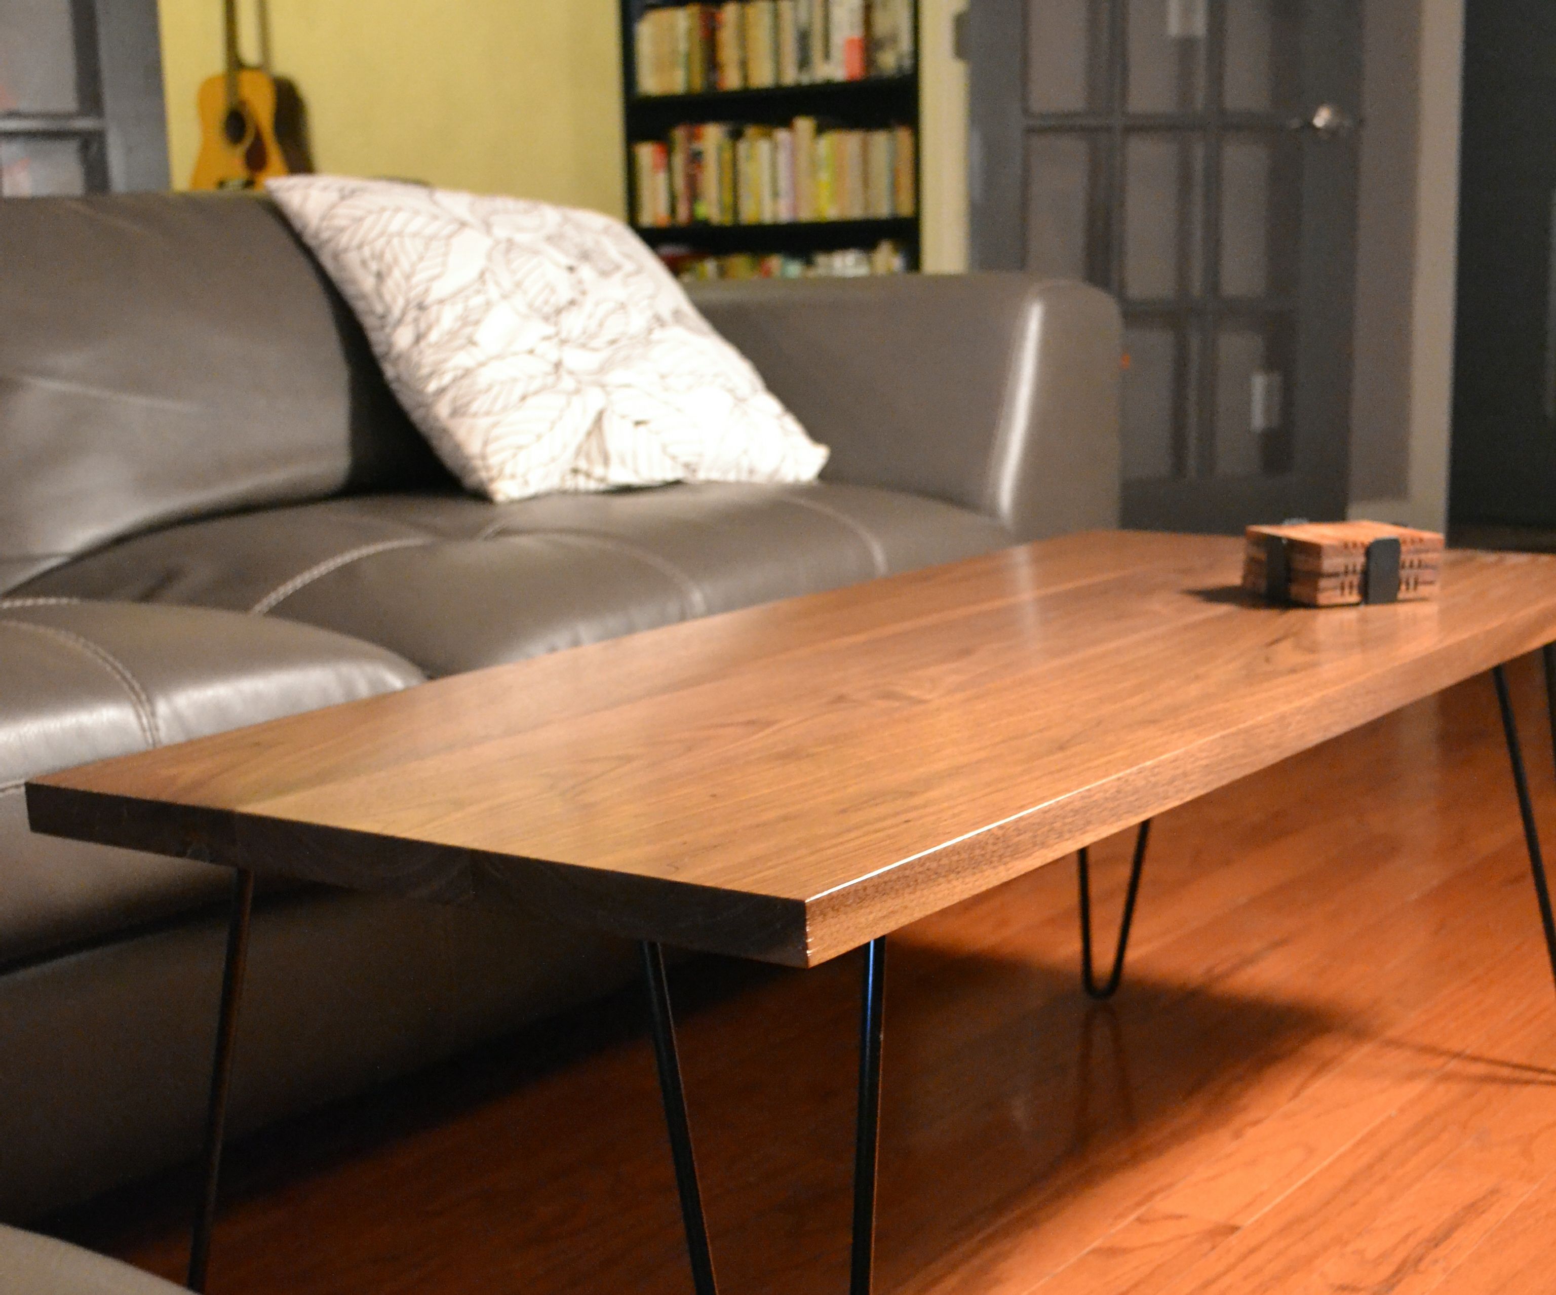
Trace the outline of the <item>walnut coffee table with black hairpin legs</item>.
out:
M 1433 602 L 1274 609 L 1237 540 L 1102 532 L 426 683 L 26 788 L 33 828 L 235 869 L 204 1287 L 255 873 L 517 904 L 643 945 L 694 1284 L 714 1290 L 661 945 L 814 967 L 864 945 L 851 1290 L 870 1289 L 885 937 L 1080 853 L 1083 974 L 1123 970 L 1151 816 L 1545 648 L 1556 557 L 1449 553 Z M 1085 847 L 1141 823 L 1106 981 Z

